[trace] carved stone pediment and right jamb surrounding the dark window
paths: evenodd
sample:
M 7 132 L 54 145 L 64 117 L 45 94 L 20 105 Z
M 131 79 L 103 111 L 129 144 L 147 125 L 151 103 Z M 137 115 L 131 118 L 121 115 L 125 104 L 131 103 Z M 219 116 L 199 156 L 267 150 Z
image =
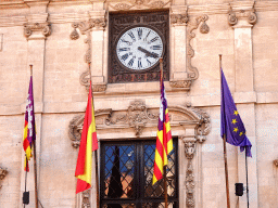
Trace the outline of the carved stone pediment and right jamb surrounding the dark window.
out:
M 184 142 L 182 148 L 185 150 L 185 154 L 182 154 L 184 156 L 179 161 L 185 162 L 184 159 L 187 158 L 186 171 L 179 171 L 179 174 L 186 176 L 186 179 L 180 178 L 180 181 L 185 181 L 179 182 L 179 184 L 186 188 L 185 203 L 187 207 L 193 208 L 195 205 L 194 169 L 201 171 L 201 169 L 194 165 L 193 158 L 197 153 L 197 146 L 202 144 L 206 140 L 205 135 L 210 133 L 210 116 L 202 109 L 191 107 L 190 105 L 168 106 L 168 110 L 173 135 L 178 135 L 179 145 Z M 94 115 L 99 141 L 104 141 L 106 139 L 123 139 L 125 135 L 121 133 L 125 131 L 128 132 L 127 139 L 140 139 L 156 135 L 159 107 L 148 107 L 141 100 L 130 102 L 130 105 L 124 110 L 113 110 L 111 108 L 99 109 L 96 110 Z M 77 115 L 68 125 L 68 136 L 75 148 L 79 146 L 84 117 L 84 114 Z M 109 135 L 114 138 L 106 138 L 106 133 L 109 132 L 116 133 Z M 131 134 L 132 132 L 134 135 Z M 180 154 L 178 155 L 180 156 Z M 180 187 L 180 195 L 182 193 L 182 187 Z M 88 206 L 88 202 L 90 202 L 88 200 L 88 195 L 86 195 L 86 197 L 83 196 L 81 198 L 81 204 Z

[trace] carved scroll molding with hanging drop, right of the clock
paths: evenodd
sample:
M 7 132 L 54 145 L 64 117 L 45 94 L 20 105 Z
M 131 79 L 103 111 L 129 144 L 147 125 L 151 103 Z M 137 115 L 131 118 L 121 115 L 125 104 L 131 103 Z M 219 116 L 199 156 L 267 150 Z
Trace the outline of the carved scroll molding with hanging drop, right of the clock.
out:
M 198 68 L 192 66 L 191 60 L 194 56 L 194 50 L 191 47 L 191 40 L 195 37 L 195 34 L 193 30 L 198 29 L 199 25 L 202 23 L 200 27 L 200 32 L 207 34 L 210 31 L 210 27 L 206 25 L 206 21 L 208 20 L 208 16 L 206 14 L 198 16 L 194 18 L 193 22 L 189 22 L 187 27 L 187 72 L 188 72 L 188 78 L 191 80 L 195 80 L 199 77 Z

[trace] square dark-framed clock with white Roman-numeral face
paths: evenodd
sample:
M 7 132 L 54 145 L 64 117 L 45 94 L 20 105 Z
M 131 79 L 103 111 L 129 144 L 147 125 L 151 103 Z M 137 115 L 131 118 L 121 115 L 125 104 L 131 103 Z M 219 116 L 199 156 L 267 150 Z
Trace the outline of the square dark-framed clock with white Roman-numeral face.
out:
M 109 14 L 108 82 L 169 80 L 169 12 L 137 11 Z

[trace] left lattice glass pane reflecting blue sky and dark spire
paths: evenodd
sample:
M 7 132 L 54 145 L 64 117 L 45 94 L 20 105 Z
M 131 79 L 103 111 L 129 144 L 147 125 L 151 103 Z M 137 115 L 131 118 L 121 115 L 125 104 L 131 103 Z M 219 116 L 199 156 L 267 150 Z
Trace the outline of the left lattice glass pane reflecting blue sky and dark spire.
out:
M 135 145 L 105 146 L 104 198 L 134 197 Z

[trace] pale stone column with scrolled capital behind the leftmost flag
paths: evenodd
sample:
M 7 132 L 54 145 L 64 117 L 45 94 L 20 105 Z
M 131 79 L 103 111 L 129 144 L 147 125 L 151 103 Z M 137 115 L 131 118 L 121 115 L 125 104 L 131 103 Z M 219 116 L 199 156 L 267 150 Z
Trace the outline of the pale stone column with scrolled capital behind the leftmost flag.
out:
M 24 25 L 24 36 L 28 46 L 28 61 L 26 74 L 28 76 L 26 86 L 29 82 L 29 65 L 33 65 L 33 81 L 34 81 L 34 101 L 36 116 L 36 158 L 37 158 L 37 182 L 39 190 L 39 172 L 40 172 L 40 143 L 41 143 L 41 120 L 43 112 L 43 70 L 45 70 L 45 49 L 46 38 L 51 34 L 50 24 L 48 23 L 47 6 L 49 0 L 25 0 L 29 6 L 29 14 L 26 16 L 27 23 Z M 27 89 L 27 88 L 26 88 Z M 27 90 L 26 90 L 27 95 Z M 26 96 L 27 98 L 27 96 Z M 24 112 L 25 112 L 25 107 Z M 24 155 L 24 153 L 23 153 Z M 23 156 L 24 158 L 24 156 Z M 24 161 L 24 159 L 23 159 Z M 35 183 L 34 183 L 34 158 L 30 160 L 30 172 L 28 173 L 27 191 L 30 192 L 30 207 L 35 206 Z M 21 176 L 21 196 L 20 205 L 22 206 L 22 193 L 25 187 L 25 171 L 22 164 Z M 38 195 L 39 197 L 39 195 Z

